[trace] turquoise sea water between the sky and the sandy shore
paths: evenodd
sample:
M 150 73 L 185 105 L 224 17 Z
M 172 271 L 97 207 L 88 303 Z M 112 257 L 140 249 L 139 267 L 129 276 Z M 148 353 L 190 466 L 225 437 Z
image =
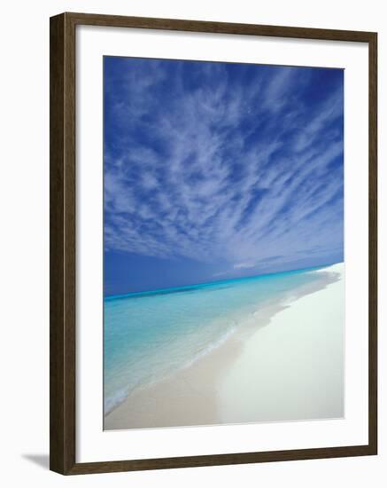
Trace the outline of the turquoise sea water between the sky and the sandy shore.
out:
M 259 307 L 324 280 L 309 268 L 104 298 L 104 413 L 190 366 Z

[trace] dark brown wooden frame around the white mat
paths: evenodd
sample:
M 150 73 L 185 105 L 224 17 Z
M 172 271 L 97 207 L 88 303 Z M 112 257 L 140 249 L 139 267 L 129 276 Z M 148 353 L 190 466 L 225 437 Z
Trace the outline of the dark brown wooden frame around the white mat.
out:
M 75 27 L 152 28 L 368 43 L 368 445 L 148 460 L 75 460 Z M 373 32 L 62 13 L 50 19 L 50 469 L 63 475 L 377 453 L 377 35 Z

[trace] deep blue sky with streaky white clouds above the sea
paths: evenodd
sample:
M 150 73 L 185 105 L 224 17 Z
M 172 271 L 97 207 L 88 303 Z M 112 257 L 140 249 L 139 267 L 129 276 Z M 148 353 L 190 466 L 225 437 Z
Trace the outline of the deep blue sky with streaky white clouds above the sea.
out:
M 104 291 L 343 261 L 344 71 L 104 58 Z

